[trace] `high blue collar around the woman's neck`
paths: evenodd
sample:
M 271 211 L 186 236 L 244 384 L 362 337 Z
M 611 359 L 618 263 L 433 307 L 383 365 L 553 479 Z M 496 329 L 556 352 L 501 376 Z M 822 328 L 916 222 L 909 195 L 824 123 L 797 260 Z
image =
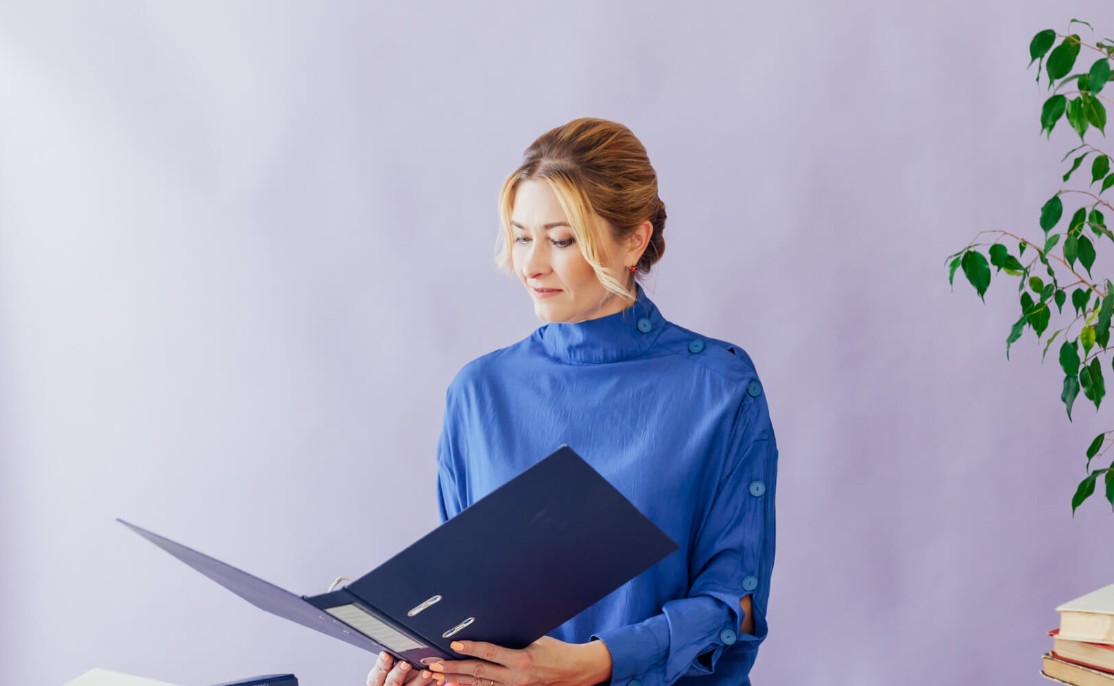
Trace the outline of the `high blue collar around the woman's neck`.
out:
M 550 322 L 538 329 L 550 355 L 576 362 L 616 362 L 646 352 L 665 325 L 665 317 L 635 284 L 637 297 L 625 310 L 574 324 Z

